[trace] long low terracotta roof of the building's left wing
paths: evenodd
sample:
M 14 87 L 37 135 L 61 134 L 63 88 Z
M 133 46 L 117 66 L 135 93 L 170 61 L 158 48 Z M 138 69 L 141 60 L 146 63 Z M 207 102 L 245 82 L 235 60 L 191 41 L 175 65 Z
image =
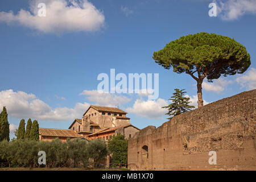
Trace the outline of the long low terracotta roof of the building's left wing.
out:
M 52 137 L 81 137 L 74 130 L 64 130 L 64 129 L 39 129 L 39 135 L 42 136 L 52 136 Z

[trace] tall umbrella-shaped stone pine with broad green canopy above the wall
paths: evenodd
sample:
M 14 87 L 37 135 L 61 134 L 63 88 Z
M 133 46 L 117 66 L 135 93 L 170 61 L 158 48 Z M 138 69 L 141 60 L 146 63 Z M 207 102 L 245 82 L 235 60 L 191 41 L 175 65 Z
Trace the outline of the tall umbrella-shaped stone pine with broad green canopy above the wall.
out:
M 176 73 L 187 73 L 197 82 L 198 107 L 203 106 L 202 83 L 220 76 L 243 73 L 251 64 L 246 48 L 227 36 L 198 34 L 182 36 L 154 52 L 155 63 Z M 195 74 L 195 75 L 194 75 Z

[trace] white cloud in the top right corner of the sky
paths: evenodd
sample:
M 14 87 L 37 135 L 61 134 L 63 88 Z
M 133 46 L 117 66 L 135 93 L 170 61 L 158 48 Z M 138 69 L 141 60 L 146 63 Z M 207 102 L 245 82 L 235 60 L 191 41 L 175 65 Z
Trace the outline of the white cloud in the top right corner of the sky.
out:
M 255 0 L 215 0 L 217 14 L 224 20 L 238 19 L 244 14 L 256 14 Z

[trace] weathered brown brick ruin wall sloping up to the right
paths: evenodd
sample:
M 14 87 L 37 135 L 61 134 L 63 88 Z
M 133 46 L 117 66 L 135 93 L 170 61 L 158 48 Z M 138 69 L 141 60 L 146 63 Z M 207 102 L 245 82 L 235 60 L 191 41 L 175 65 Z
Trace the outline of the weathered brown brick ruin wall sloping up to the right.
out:
M 256 170 L 256 89 L 148 126 L 128 144 L 132 170 Z M 209 151 L 217 164 L 210 165 Z

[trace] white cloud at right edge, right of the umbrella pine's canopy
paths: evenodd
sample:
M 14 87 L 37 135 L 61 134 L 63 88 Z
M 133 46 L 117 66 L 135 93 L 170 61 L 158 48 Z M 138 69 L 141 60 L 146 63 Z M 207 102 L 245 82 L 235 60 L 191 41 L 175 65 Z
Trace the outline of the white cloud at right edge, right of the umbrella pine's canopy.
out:
M 251 68 L 245 75 L 238 77 L 236 81 L 247 89 L 256 89 L 256 69 Z

